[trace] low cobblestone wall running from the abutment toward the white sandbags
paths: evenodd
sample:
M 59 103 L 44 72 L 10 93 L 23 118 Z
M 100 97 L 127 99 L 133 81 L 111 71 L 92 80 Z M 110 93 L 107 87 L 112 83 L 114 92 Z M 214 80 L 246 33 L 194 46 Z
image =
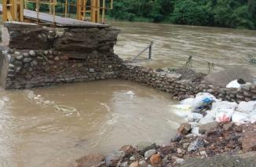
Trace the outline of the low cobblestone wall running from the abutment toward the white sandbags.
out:
M 256 86 L 245 84 L 242 89 L 227 89 L 207 82 L 182 79 L 181 74 L 175 72 L 155 71 L 151 68 L 123 64 L 119 77 L 133 82 L 141 82 L 156 89 L 170 93 L 174 100 L 183 100 L 195 96 L 197 93 L 211 93 L 214 96 L 228 101 L 256 100 Z

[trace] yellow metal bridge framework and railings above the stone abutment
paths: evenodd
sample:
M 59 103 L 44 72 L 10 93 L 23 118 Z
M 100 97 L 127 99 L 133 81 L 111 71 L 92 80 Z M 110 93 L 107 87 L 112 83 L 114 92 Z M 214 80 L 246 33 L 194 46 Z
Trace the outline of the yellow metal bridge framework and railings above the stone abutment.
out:
M 110 0 L 110 7 L 107 7 L 106 0 L 76 0 L 76 4 L 59 2 L 58 0 L 2 0 L 3 21 L 26 21 L 32 20 L 24 19 L 24 9 L 27 9 L 28 3 L 35 3 L 35 11 L 37 18 L 40 13 L 40 5 L 49 5 L 49 14 L 53 16 L 53 23 L 55 22 L 56 7 L 64 6 L 64 17 L 68 17 L 68 9 L 72 6 L 76 8 L 76 19 L 86 20 L 94 23 L 105 23 L 105 10 L 112 9 L 113 0 Z

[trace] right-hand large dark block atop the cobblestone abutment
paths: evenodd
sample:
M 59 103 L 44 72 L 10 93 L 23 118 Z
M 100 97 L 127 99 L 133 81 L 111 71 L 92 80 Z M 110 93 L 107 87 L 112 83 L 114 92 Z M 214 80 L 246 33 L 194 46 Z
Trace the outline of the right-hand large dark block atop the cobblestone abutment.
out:
M 67 29 L 62 36 L 56 39 L 54 48 L 61 51 L 108 50 L 112 52 L 118 34 L 118 29 L 109 27 Z

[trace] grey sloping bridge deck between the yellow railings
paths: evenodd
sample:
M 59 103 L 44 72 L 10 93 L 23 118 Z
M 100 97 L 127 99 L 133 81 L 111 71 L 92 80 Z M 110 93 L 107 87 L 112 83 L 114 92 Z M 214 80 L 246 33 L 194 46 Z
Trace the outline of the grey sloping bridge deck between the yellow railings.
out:
M 2 13 L 2 4 L 0 4 L 0 13 Z M 39 20 L 40 23 L 53 24 L 53 15 L 47 13 L 37 13 L 32 10 L 24 9 L 24 18 L 29 20 Z M 62 16 L 55 16 L 55 25 L 57 27 L 109 27 L 107 24 L 96 24 L 89 21 L 71 19 Z

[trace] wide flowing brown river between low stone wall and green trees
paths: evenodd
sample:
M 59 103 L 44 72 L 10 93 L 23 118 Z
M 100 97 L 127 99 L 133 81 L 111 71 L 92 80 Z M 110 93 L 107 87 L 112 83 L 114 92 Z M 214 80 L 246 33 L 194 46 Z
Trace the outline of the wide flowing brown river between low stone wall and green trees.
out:
M 256 31 L 219 27 L 198 27 L 170 24 L 110 22 L 121 29 L 115 53 L 131 60 L 150 42 L 154 42 L 152 61 L 148 53 L 137 64 L 153 68 L 182 67 L 192 56 L 196 71 L 208 72 L 233 66 L 247 67 L 256 76 L 256 65 L 248 63 L 248 56 L 256 58 Z M 128 52 L 127 52 L 128 51 Z

